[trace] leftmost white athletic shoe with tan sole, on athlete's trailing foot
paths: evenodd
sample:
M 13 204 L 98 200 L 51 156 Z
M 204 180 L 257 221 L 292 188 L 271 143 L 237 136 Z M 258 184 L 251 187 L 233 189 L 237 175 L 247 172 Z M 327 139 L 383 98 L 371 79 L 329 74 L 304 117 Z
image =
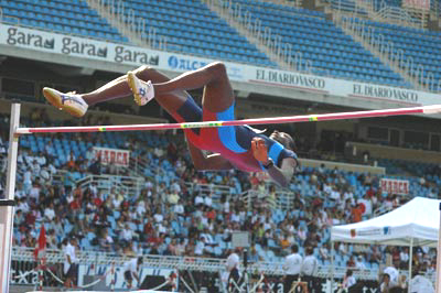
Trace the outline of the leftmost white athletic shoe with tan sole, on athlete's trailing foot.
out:
M 43 96 L 60 110 L 64 110 L 78 118 L 83 117 L 89 107 L 79 95 L 72 93 L 63 94 L 50 87 L 43 88 Z

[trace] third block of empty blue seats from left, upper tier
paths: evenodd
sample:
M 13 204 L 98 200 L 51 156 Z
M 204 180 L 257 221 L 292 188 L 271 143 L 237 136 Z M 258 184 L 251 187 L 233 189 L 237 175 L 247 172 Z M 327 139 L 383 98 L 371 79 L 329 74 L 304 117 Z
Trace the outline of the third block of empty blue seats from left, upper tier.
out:
M 241 15 L 251 13 L 261 21 L 261 33 L 268 26 L 271 29 L 272 41 L 279 35 L 281 43 L 290 44 L 292 58 L 300 55 L 302 68 L 310 61 L 313 74 L 389 86 L 409 86 L 400 75 L 336 28 L 321 11 L 250 0 L 235 0 L 234 3 L 241 7 Z

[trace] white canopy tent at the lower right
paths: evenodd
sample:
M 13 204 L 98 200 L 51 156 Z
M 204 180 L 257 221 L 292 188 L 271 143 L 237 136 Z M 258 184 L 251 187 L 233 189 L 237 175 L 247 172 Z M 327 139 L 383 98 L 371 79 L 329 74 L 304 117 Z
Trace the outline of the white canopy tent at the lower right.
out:
M 409 275 L 412 269 L 413 246 L 437 247 L 439 241 L 441 200 L 416 197 L 409 203 L 400 206 L 379 217 L 349 224 L 335 226 L 331 229 L 331 241 L 369 243 L 387 246 L 408 246 Z M 334 246 L 332 246 L 333 248 Z M 438 253 L 440 257 L 440 253 Z M 437 292 L 439 261 L 437 263 Z M 409 278 L 410 280 L 410 278 Z

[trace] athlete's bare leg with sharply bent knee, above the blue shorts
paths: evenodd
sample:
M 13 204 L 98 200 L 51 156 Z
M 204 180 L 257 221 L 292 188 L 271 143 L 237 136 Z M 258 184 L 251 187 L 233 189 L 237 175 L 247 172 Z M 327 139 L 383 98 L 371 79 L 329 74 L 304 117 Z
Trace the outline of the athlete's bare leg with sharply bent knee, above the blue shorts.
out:
M 204 87 L 203 107 L 222 112 L 233 105 L 235 97 L 225 65 L 212 63 L 194 72 L 184 73 L 165 83 L 153 83 L 157 99 L 165 94 Z

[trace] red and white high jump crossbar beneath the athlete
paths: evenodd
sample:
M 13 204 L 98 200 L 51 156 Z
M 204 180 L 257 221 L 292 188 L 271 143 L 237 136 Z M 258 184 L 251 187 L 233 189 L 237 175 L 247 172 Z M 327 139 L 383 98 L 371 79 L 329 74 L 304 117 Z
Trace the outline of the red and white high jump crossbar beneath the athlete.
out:
M 385 110 L 353 111 L 322 115 L 302 115 L 275 118 L 256 118 L 232 121 L 202 121 L 183 123 L 155 123 L 155 124 L 128 124 L 128 126 L 95 126 L 95 127 L 47 127 L 47 128 L 18 128 L 15 134 L 50 133 L 50 132 L 104 132 L 104 131 L 135 131 L 135 130 L 168 130 L 189 128 L 215 128 L 244 124 L 275 124 L 308 121 L 330 121 L 342 119 L 357 119 L 369 117 L 402 116 L 402 115 L 431 115 L 441 112 L 441 105 L 421 106 L 412 108 L 398 108 Z

